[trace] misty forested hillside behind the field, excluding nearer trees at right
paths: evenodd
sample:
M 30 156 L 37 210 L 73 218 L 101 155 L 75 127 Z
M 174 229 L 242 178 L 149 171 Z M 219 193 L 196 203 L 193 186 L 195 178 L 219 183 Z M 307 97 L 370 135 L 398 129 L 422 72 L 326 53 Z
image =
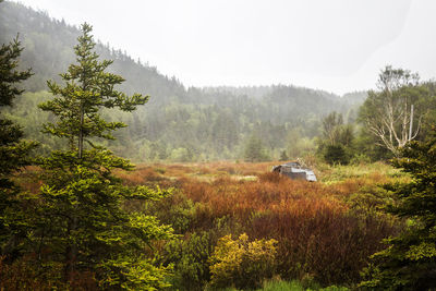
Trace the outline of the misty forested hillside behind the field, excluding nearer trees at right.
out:
M 46 146 L 39 148 L 44 151 L 56 144 L 38 133 L 50 116 L 36 105 L 49 97 L 46 81 L 59 82 L 59 72 L 74 61 L 80 32 L 45 12 L 3 2 L 0 41 L 8 43 L 17 34 L 24 47 L 21 65 L 32 68 L 35 75 L 24 83 L 27 93 L 8 110 L 28 138 L 44 140 Z M 324 117 L 335 110 L 344 114 L 346 123 L 353 122 L 366 96 L 361 92 L 340 97 L 286 85 L 185 88 L 175 77 L 110 45 L 98 43 L 96 51 L 101 59 L 114 60 L 110 70 L 126 80 L 120 89 L 150 96 L 133 114 L 110 112 L 110 118 L 130 125 L 110 147 L 137 161 L 243 159 L 250 141 L 261 136 L 261 159 L 278 158 L 283 150 L 299 156 L 314 148 L 313 137 L 320 134 Z

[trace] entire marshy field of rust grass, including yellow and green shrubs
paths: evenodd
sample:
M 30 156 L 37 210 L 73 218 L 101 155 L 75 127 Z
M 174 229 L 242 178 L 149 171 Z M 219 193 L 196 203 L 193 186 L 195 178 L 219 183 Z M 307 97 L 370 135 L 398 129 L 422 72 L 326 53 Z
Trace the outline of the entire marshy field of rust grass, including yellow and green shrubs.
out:
M 170 190 L 124 207 L 173 228 L 173 240 L 150 248 L 155 263 L 171 266 L 171 289 L 353 288 L 368 257 L 386 247 L 382 240 L 402 228 L 384 211 L 393 198 L 383 187 L 407 182 L 400 170 L 312 161 L 318 182 L 306 182 L 270 172 L 279 163 L 140 163 L 117 172 L 129 186 Z M 38 189 L 37 171 L 23 172 L 19 183 Z

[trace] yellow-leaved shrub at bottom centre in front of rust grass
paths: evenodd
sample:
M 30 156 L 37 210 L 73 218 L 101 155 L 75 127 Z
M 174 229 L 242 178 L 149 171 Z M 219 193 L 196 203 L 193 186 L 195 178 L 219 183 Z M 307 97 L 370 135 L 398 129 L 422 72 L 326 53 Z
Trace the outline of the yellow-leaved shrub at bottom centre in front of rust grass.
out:
M 275 272 L 276 240 L 249 242 L 243 233 L 238 240 L 226 235 L 210 256 L 213 288 L 257 288 Z

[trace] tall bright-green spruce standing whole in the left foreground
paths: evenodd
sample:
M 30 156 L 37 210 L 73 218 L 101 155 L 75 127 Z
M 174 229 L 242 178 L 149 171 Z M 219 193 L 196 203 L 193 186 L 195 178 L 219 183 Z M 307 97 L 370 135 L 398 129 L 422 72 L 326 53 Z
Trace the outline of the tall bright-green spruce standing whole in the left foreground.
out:
M 81 272 L 90 271 L 100 288 L 162 288 L 166 269 L 152 265 L 146 254 L 154 240 L 170 238 L 171 229 L 123 205 L 130 199 L 156 199 L 167 192 L 124 186 L 112 171 L 133 166 L 96 144 L 112 140 L 111 132 L 125 126 L 102 119 L 101 109 L 132 111 L 148 96 L 129 97 L 114 88 L 124 80 L 106 72 L 111 61 L 98 60 L 90 32 L 92 26 L 82 25 L 74 47 L 76 64 L 61 74 L 64 86 L 48 82 L 56 97 L 40 105 L 57 117 L 44 131 L 66 138 L 69 147 L 40 159 L 45 208 L 43 229 L 34 238 L 44 244 L 38 246 L 38 256 L 46 265 L 62 266 L 70 284 Z

